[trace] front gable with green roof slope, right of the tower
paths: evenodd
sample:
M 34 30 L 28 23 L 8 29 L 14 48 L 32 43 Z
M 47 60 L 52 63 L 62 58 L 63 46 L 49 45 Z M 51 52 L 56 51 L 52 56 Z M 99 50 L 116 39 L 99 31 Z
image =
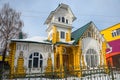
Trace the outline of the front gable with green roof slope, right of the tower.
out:
M 71 38 L 75 40 L 73 44 L 77 44 L 79 39 L 84 37 L 94 37 L 95 39 L 104 41 L 104 38 L 92 21 L 72 32 L 71 36 Z

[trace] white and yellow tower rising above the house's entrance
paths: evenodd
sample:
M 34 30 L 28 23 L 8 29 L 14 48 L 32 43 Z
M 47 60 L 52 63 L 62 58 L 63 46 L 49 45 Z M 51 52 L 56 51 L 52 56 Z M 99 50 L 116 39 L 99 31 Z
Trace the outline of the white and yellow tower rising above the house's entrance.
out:
M 72 22 L 75 19 L 76 17 L 68 5 L 59 4 L 45 21 L 48 40 L 51 40 L 52 43 L 71 41 Z

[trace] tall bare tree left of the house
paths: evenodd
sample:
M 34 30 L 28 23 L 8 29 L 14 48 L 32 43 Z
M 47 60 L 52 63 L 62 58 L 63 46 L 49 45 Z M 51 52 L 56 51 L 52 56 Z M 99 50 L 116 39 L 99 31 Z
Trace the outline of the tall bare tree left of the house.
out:
M 9 4 L 5 4 L 0 10 L 0 42 L 3 43 L 2 72 L 4 70 L 4 62 L 9 40 L 17 38 L 23 27 L 20 15 L 19 12 L 10 8 Z

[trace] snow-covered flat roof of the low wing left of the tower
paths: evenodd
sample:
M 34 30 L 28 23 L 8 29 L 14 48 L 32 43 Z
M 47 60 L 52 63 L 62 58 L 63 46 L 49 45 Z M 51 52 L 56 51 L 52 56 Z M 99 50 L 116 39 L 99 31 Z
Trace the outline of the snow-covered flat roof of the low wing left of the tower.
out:
M 28 42 L 28 43 L 41 43 L 41 44 L 51 44 L 47 41 L 46 37 L 35 36 L 26 39 L 11 39 L 13 42 Z

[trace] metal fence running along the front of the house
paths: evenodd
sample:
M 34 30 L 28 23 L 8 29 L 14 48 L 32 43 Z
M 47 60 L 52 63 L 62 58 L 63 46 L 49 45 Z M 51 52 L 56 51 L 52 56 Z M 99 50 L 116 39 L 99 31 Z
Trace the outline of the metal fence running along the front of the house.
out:
M 12 76 L 13 80 L 120 80 L 120 68 L 109 67 L 108 73 L 106 73 L 106 70 L 105 68 L 99 68 L 71 72 L 64 69 L 61 72 L 29 73 L 24 75 L 4 74 L 3 80 L 9 80 L 10 76 Z M 81 73 L 82 77 L 77 77 L 71 73 Z

